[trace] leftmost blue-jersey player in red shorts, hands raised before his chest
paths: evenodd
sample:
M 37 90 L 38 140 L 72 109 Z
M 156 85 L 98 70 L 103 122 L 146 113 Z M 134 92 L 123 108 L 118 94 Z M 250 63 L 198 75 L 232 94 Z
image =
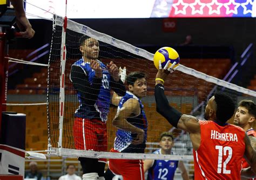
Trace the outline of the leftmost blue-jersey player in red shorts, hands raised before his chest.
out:
M 77 90 L 79 107 L 75 112 L 73 134 L 76 149 L 107 151 L 106 121 L 111 89 L 125 95 L 125 86 L 117 66 L 98 60 L 99 42 L 82 36 L 79 50 L 83 57 L 71 66 L 70 80 Z M 79 157 L 84 179 L 104 179 L 105 159 Z

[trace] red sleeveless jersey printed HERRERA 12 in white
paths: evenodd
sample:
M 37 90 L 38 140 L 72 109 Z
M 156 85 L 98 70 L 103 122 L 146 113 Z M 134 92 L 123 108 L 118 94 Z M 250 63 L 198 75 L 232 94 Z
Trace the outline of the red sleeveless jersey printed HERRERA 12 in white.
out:
M 194 154 L 194 179 L 241 179 L 245 131 L 232 124 L 199 121 L 201 142 Z

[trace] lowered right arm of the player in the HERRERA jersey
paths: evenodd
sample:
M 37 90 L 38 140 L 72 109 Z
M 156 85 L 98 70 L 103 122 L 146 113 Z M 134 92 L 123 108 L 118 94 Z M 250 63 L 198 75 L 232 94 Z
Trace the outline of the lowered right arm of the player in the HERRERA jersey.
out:
M 245 133 L 245 158 L 250 164 L 252 171 L 256 173 L 256 150 L 253 149 L 248 135 Z M 255 142 L 253 142 L 255 144 Z

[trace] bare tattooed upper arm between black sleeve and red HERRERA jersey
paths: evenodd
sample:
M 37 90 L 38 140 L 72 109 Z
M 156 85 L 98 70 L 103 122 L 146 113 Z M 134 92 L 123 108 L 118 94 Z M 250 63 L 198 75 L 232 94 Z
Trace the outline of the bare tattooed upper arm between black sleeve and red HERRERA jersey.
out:
M 200 131 L 200 124 L 197 117 L 186 114 L 180 117 L 177 127 L 188 133 L 198 133 Z

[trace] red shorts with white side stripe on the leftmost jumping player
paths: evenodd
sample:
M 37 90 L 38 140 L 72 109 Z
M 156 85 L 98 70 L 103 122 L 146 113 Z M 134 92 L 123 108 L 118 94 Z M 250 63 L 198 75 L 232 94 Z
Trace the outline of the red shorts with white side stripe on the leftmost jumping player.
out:
M 76 117 L 73 124 L 76 149 L 107 151 L 106 123 L 98 119 Z M 106 162 L 106 160 L 103 160 Z

